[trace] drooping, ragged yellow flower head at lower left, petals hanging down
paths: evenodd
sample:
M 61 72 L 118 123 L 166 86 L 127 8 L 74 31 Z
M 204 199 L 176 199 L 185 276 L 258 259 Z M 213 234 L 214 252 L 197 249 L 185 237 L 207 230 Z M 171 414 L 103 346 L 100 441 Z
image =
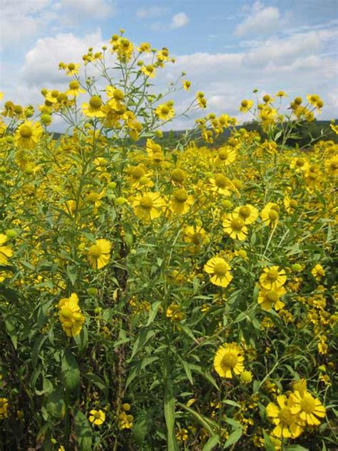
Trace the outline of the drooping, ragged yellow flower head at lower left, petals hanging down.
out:
M 85 321 L 78 305 L 78 295 L 72 293 L 69 298 L 62 298 L 58 303 L 58 317 L 67 337 L 75 337 L 81 332 Z

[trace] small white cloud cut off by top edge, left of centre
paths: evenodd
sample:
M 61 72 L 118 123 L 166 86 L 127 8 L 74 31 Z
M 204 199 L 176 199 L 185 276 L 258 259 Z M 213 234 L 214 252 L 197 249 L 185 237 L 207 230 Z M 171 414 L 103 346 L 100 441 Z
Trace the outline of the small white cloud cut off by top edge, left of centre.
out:
M 73 19 L 88 16 L 92 19 L 106 19 L 116 14 L 112 0 L 61 0 L 66 14 L 73 14 Z

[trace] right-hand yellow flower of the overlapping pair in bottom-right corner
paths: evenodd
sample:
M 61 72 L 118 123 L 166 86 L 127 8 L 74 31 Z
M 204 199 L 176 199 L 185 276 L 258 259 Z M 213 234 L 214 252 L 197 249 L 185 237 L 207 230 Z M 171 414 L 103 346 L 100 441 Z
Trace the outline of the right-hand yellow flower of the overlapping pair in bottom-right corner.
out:
M 310 426 L 318 426 L 320 424 L 319 418 L 324 418 L 325 407 L 322 403 L 314 398 L 309 392 L 300 393 L 295 391 L 292 397 L 292 414 L 298 414 L 299 418 Z

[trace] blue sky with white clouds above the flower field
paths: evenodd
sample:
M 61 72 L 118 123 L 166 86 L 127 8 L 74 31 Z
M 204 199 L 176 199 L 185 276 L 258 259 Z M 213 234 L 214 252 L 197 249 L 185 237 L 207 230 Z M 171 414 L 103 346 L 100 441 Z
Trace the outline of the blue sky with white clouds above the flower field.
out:
M 81 62 L 89 46 L 101 50 L 123 28 L 133 42 L 166 46 L 175 57 L 155 79 L 159 88 L 187 73 L 191 92 L 176 94 L 177 111 L 204 91 L 208 109 L 198 116 L 245 121 L 240 101 L 257 88 L 285 91 L 287 102 L 318 93 L 319 118 L 338 118 L 338 0 L 0 0 L 0 9 L 3 101 L 39 104 L 41 88 L 66 90 L 58 62 Z

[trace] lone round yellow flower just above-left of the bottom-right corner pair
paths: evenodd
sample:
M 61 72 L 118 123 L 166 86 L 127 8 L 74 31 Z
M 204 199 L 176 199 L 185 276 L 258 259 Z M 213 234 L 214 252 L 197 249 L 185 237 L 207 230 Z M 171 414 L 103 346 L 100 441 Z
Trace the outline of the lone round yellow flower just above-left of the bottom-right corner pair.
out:
M 225 343 L 218 348 L 214 358 L 214 368 L 220 377 L 232 378 L 232 373 L 240 375 L 244 370 L 242 348 L 236 343 Z

